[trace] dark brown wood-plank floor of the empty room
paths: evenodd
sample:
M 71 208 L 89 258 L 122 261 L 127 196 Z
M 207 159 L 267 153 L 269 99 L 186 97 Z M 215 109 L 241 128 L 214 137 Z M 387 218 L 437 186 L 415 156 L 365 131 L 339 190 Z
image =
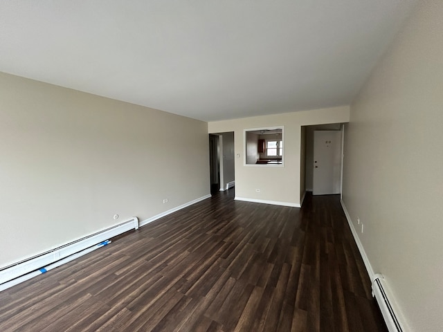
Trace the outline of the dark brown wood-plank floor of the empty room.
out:
M 233 190 L 0 293 L 0 331 L 387 331 L 338 196 Z

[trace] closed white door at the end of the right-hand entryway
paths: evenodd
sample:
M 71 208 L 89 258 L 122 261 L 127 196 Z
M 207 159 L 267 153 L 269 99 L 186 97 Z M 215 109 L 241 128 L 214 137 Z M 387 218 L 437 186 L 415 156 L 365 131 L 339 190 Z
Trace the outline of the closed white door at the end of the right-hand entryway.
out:
M 341 131 L 314 131 L 313 167 L 312 194 L 340 194 Z

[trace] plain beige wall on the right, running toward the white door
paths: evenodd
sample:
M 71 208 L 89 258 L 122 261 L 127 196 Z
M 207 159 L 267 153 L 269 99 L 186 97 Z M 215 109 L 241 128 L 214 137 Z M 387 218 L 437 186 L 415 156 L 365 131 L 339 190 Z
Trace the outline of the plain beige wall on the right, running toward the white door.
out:
M 422 1 L 351 106 L 343 201 L 406 331 L 442 331 L 443 1 Z M 357 227 L 356 227 L 357 228 Z

